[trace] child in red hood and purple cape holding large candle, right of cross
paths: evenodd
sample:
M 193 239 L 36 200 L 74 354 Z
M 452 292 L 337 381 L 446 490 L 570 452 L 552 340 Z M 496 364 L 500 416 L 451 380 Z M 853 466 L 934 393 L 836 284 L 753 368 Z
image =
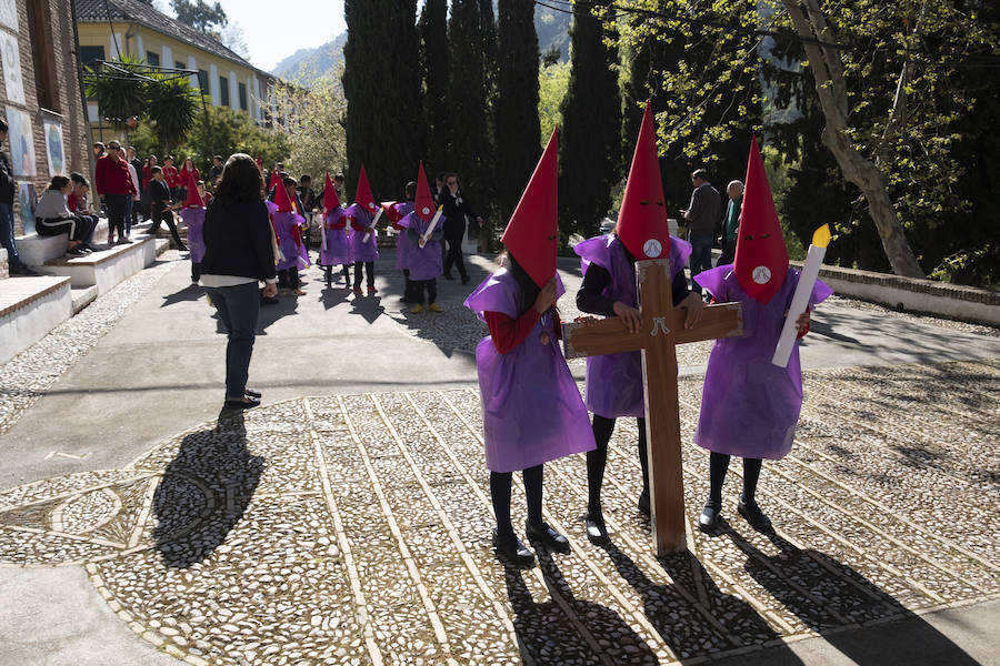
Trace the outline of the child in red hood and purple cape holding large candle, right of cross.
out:
M 743 490 L 737 513 L 754 529 L 768 532 L 771 521 L 757 503 L 757 482 L 762 458 L 781 460 L 791 451 L 802 407 L 802 371 L 798 343 L 787 367 L 771 363 L 799 271 L 788 265 L 784 236 L 756 140 L 747 168 L 736 262 L 699 273 L 694 280 L 713 300 L 741 303 L 743 316 L 743 335 L 714 342 L 704 375 L 694 443 L 711 452 L 710 486 L 698 524 L 704 532 L 718 526 L 722 482 L 730 456 L 738 455 L 743 458 Z M 809 306 L 831 293 L 817 281 Z M 809 320 L 807 310 L 796 321 L 799 337 L 809 331 Z

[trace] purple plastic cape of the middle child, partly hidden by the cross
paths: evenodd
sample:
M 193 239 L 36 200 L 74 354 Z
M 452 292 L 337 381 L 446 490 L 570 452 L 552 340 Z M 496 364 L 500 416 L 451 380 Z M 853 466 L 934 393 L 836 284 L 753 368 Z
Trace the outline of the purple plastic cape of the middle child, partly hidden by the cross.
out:
M 637 307 L 636 270 L 629 263 L 624 245 L 613 233 L 578 243 L 573 251 L 580 255 L 583 273 L 594 263 L 611 273 L 611 285 L 604 296 Z M 691 245 L 670 236 L 671 278 L 683 279 Z M 604 416 L 646 416 L 646 391 L 642 384 L 642 353 L 622 352 L 587 359 L 587 408 Z

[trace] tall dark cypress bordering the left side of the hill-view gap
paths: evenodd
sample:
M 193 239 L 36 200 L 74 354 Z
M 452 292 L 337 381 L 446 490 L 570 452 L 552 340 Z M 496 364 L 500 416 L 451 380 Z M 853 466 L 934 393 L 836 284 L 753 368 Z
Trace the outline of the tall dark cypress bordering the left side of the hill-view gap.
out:
M 513 213 L 541 153 L 534 2 L 500 0 L 497 31 L 497 185 L 506 219 Z

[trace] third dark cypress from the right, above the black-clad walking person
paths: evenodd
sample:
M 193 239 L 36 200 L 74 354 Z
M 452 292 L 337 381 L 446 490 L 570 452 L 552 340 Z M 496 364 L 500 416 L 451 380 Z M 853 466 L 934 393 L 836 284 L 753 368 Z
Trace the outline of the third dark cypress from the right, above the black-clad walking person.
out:
M 448 107 L 451 141 L 448 169 L 457 171 L 462 188 L 484 212 L 490 183 L 489 107 L 484 78 L 482 12 L 479 0 L 452 0 L 448 23 L 450 52 Z

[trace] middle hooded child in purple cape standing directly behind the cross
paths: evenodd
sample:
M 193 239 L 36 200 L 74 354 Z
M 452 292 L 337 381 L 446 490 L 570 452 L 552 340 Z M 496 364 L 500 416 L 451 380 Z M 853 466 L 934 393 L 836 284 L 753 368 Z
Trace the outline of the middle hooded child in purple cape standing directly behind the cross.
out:
M 579 243 L 583 284 L 577 294 L 577 306 L 587 313 L 619 316 L 630 330 L 640 323 L 639 295 L 636 291 L 636 261 L 669 258 L 673 306 L 688 311 L 686 325 L 701 317 L 700 296 L 688 289 L 683 268 L 691 245 L 670 235 L 663 185 L 657 158 L 656 129 L 647 104 L 626 184 L 624 198 L 614 232 Z M 587 454 L 587 537 L 596 544 L 607 543 L 608 531 L 601 507 L 601 485 L 608 463 L 608 443 L 619 416 L 637 420 L 639 427 L 639 464 L 642 492 L 639 511 L 649 516 L 649 463 L 646 443 L 646 392 L 642 381 L 641 352 L 622 352 L 587 359 L 587 408 L 593 412 L 593 436 L 597 448 Z

